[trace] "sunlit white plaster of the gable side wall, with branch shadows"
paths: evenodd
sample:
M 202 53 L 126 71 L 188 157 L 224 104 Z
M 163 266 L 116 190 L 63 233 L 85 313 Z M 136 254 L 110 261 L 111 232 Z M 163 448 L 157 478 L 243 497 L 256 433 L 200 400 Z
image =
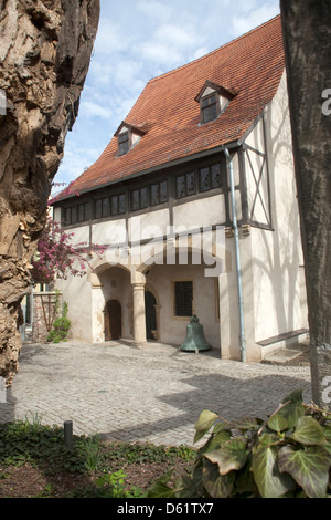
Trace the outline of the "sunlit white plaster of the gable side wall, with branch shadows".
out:
M 252 228 L 256 342 L 307 326 L 302 309 L 299 268 L 302 250 L 285 75 L 266 111 L 265 121 L 274 231 Z M 256 127 L 250 142 L 255 147 L 261 146 L 261 124 Z

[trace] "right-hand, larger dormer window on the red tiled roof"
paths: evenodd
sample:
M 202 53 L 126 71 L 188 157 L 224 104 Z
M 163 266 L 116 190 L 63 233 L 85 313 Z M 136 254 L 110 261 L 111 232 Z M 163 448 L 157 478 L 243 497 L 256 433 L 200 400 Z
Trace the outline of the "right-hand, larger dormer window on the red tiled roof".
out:
M 200 103 L 200 124 L 204 125 L 205 123 L 217 119 L 226 110 L 234 95 L 233 92 L 223 86 L 206 81 L 199 95 L 195 97 L 195 101 Z

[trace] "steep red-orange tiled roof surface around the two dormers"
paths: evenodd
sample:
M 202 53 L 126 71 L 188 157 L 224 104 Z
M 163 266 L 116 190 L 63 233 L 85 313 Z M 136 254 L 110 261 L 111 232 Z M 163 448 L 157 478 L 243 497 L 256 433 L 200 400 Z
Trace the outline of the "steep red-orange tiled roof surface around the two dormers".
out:
M 125 119 L 146 132 L 140 142 L 116 157 L 114 136 L 72 189 L 83 193 L 239 139 L 275 96 L 284 69 L 281 22 L 276 17 L 210 54 L 150 80 Z M 218 119 L 200 126 L 195 98 L 207 80 L 236 95 Z

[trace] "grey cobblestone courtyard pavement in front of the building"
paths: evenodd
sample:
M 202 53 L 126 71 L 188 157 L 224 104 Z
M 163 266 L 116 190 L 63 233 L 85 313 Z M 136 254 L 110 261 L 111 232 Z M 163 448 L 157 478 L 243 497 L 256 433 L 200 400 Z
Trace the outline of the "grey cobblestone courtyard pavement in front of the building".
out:
M 226 419 L 265 418 L 293 389 L 311 399 L 309 366 L 223 361 L 150 343 L 24 344 L 20 370 L 0 403 L 0 423 L 39 418 L 109 440 L 192 445 L 203 409 Z

